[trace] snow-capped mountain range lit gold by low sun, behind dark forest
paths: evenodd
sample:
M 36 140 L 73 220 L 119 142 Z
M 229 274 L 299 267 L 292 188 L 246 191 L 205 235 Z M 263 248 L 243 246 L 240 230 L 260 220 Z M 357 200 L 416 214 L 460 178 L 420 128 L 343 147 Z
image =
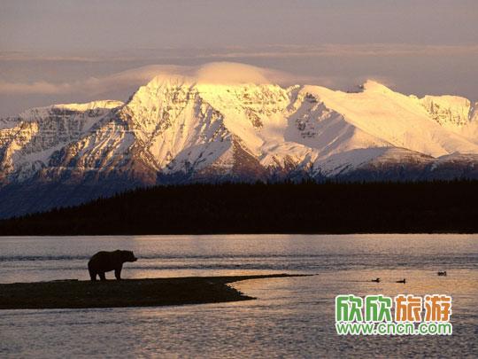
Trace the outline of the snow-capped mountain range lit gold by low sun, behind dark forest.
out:
M 162 183 L 478 178 L 477 166 L 466 98 L 162 76 L 126 103 L 0 120 L 0 216 Z

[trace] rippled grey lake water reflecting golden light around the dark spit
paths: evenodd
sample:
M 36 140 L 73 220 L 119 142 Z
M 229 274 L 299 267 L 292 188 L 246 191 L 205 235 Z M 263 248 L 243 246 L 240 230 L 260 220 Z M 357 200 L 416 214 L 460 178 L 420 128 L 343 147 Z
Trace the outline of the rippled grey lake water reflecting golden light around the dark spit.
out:
M 0 357 L 478 356 L 478 235 L 0 238 L 0 282 L 88 279 L 89 256 L 115 249 L 140 258 L 125 278 L 317 275 L 235 283 L 258 300 L 234 303 L 0 311 Z M 348 293 L 450 294 L 453 334 L 338 336 Z

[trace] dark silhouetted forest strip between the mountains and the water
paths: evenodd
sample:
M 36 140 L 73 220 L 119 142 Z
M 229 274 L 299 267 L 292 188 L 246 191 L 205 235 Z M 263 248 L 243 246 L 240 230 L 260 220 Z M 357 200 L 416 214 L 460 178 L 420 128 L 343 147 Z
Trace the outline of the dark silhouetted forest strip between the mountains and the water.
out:
M 0 221 L 0 235 L 478 232 L 478 182 L 159 186 Z

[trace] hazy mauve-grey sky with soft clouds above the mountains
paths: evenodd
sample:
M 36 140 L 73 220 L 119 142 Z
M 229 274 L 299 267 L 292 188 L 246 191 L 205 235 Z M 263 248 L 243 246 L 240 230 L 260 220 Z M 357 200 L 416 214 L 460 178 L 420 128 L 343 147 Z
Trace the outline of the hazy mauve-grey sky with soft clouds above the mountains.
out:
M 126 100 L 155 74 L 225 61 L 284 86 L 373 79 L 475 101 L 477 15 L 476 0 L 0 0 L 0 116 Z

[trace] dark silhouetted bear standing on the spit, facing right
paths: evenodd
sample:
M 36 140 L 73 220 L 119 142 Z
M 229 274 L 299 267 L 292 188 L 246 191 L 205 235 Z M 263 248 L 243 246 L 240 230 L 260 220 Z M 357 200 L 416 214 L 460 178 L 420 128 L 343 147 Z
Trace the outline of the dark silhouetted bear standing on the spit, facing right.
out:
M 137 260 L 131 251 L 98 252 L 88 262 L 89 277 L 91 280 L 96 280 L 96 275 L 98 275 L 101 280 L 106 280 L 104 273 L 114 270 L 114 277 L 121 279 L 123 263 Z

